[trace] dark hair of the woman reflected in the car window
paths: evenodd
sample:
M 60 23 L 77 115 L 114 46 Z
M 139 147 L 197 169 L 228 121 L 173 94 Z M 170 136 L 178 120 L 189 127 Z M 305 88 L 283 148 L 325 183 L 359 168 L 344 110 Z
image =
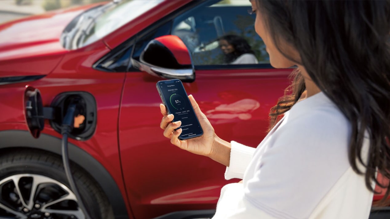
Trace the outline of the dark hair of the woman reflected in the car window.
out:
M 243 55 L 245 53 L 255 54 L 255 52 L 251 49 L 248 42 L 243 37 L 230 34 L 218 38 L 218 41 L 220 40 L 227 41 L 234 48 L 234 51 L 232 53 L 225 54 L 223 60 L 223 62 L 225 63 L 233 62 L 234 60 L 236 60 L 236 58 L 238 58 L 240 55 Z

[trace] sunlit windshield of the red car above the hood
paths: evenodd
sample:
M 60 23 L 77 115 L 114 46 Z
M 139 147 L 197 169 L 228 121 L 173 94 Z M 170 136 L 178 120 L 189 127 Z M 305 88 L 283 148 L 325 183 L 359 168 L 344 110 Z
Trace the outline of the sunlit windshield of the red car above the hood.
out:
M 73 30 L 66 32 L 64 46 L 75 49 L 95 42 L 117 30 L 122 25 L 149 11 L 163 0 L 113 0 L 82 14 Z

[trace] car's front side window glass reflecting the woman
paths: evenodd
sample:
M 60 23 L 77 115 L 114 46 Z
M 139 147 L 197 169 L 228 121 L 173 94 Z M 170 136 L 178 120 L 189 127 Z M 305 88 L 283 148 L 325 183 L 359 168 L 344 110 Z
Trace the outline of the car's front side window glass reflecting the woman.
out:
M 172 35 L 190 50 L 194 65 L 269 64 L 256 34 L 249 1 L 208 1 L 174 19 Z

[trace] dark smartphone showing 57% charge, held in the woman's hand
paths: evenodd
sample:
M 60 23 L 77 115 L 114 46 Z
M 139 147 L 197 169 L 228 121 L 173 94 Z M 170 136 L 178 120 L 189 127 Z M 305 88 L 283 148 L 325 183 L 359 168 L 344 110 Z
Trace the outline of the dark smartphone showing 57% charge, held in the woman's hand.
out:
M 156 88 L 168 115 L 174 115 L 172 122 L 181 121 L 179 128 L 183 129 L 183 132 L 181 132 L 179 139 L 186 140 L 201 136 L 203 134 L 202 127 L 200 127 L 183 83 L 179 79 L 163 80 L 157 82 Z

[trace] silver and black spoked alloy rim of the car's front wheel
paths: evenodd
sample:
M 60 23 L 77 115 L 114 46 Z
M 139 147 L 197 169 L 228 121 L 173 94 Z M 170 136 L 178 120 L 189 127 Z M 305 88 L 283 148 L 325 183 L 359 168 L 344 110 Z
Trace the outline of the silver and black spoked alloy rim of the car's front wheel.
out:
M 85 219 L 74 193 L 64 184 L 37 174 L 0 180 L 0 219 Z

